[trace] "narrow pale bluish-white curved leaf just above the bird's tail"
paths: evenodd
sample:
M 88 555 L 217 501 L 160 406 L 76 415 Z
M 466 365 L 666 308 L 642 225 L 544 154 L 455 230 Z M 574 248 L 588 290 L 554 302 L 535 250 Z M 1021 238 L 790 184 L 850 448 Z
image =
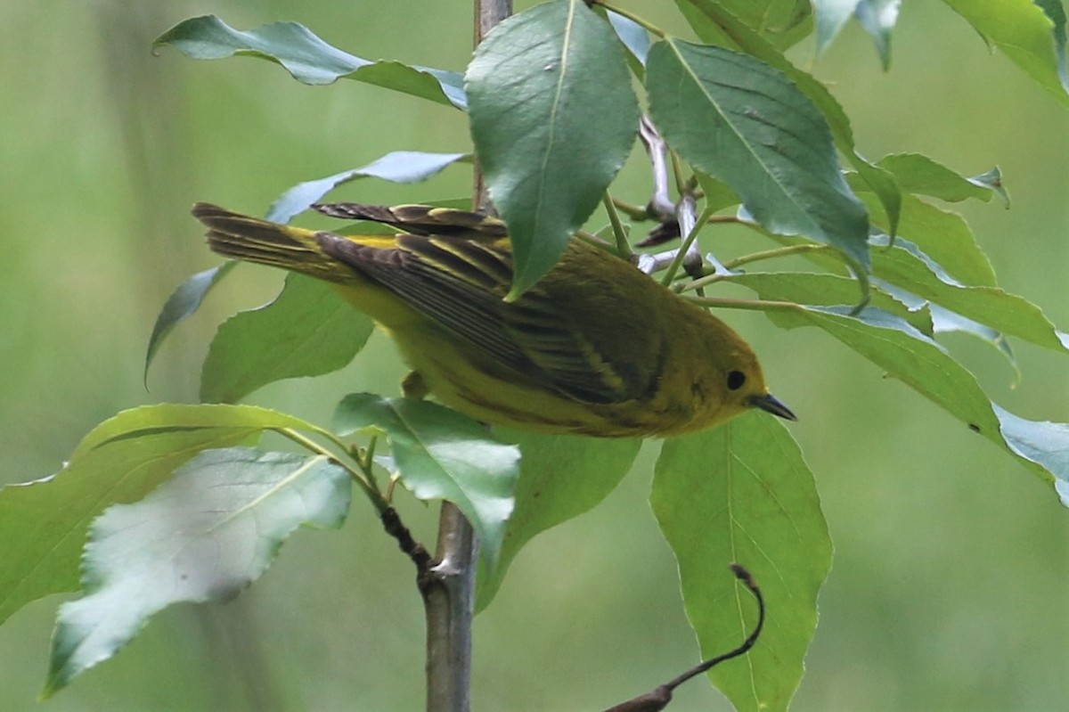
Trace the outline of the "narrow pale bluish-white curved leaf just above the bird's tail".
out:
M 367 166 L 342 171 L 315 181 L 299 183 L 276 200 L 267 211 L 267 219 L 289 222 L 298 213 L 307 211 L 339 185 L 361 177 L 377 177 L 393 183 L 418 183 L 436 175 L 456 161 L 470 160 L 466 153 L 423 153 L 420 151 L 392 151 Z

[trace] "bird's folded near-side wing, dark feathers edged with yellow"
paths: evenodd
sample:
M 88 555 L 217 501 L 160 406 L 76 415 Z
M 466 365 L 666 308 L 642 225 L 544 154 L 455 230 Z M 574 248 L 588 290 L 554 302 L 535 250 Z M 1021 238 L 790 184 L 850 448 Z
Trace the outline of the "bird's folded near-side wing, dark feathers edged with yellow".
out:
M 648 391 L 649 373 L 615 362 L 560 304 L 536 285 L 515 301 L 512 253 L 503 244 L 446 236 L 398 235 L 394 246 L 317 233 L 324 251 L 391 290 L 495 363 L 577 401 L 617 403 Z M 607 313 L 605 321 L 614 314 Z

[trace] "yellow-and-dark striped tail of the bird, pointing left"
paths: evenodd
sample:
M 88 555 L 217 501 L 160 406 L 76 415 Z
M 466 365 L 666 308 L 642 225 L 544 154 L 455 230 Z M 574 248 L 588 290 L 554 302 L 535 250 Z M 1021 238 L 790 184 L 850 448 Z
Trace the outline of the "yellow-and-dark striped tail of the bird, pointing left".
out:
M 208 247 L 223 257 L 331 281 L 343 281 L 347 276 L 340 274 L 346 270 L 339 270 L 338 261 L 323 251 L 312 230 L 261 220 L 211 203 L 197 203 L 192 214 L 208 229 Z

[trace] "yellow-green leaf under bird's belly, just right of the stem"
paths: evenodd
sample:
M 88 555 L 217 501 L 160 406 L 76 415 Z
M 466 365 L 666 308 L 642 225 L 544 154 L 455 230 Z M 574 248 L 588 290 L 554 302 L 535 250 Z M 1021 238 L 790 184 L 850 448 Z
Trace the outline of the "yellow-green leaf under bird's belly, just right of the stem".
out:
M 544 435 L 495 428 L 503 440 L 520 446 L 515 508 L 505 528 L 500 562 L 493 575 L 479 576 L 476 608 L 494 599 L 512 559 L 536 535 L 567 522 L 616 489 L 631 469 L 640 439 Z

